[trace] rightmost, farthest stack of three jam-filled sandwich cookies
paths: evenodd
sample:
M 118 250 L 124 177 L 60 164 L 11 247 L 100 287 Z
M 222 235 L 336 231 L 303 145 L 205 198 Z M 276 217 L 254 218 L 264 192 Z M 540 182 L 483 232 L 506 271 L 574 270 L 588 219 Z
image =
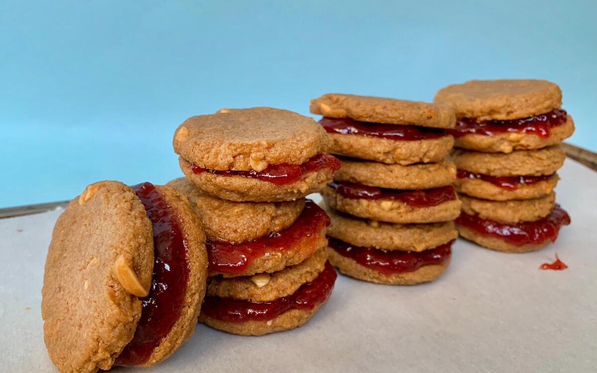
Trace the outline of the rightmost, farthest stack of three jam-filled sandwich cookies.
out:
M 458 232 L 486 248 L 534 251 L 570 217 L 555 203 L 559 143 L 574 132 L 558 85 L 543 80 L 469 81 L 442 88 L 436 103 L 457 116 L 451 159 L 462 201 Z

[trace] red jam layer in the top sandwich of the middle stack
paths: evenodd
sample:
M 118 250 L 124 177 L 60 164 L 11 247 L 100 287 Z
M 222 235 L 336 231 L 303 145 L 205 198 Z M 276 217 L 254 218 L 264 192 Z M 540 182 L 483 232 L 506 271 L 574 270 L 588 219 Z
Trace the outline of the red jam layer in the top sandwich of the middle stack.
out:
M 350 118 L 328 118 L 324 116 L 319 120 L 319 124 L 324 127 L 326 132 L 331 134 L 381 137 L 395 141 L 428 140 L 446 135 L 445 130 L 438 128 L 359 122 Z

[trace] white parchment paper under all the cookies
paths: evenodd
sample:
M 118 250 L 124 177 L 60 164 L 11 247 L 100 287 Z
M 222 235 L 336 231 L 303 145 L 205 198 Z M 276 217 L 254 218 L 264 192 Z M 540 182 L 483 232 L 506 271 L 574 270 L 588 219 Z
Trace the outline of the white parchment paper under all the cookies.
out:
M 328 303 L 303 327 L 239 337 L 198 325 L 149 371 L 595 372 L 597 173 L 568 160 L 559 174 L 557 199 L 573 223 L 555 245 L 503 254 L 459 239 L 447 272 L 425 285 L 338 276 Z M 56 371 L 39 308 L 58 215 L 0 220 L 2 372 Z M 570 268 L 538 270 L 554 252 Z

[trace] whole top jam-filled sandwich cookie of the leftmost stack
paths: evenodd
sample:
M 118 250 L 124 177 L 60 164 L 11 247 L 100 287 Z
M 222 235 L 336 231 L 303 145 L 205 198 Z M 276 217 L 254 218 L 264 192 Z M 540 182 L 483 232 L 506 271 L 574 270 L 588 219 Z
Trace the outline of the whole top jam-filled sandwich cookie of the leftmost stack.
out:
M 177 128 L 173 146 L 189 180 L 230 201 L 294 201 L 321 189 L 339 167 L 320 125 L 269 107 L 193 116 Z

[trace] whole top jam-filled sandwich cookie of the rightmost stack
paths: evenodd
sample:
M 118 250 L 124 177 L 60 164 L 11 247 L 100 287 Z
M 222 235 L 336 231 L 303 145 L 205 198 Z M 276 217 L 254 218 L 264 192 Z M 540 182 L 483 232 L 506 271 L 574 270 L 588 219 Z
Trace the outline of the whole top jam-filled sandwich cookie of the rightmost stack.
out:
M 538 79 L 468 81 L 442 88 L 435 103 L 456 112 L 455 146 L 492 153 L 540 149 L 574 132 L 558 85 Z

